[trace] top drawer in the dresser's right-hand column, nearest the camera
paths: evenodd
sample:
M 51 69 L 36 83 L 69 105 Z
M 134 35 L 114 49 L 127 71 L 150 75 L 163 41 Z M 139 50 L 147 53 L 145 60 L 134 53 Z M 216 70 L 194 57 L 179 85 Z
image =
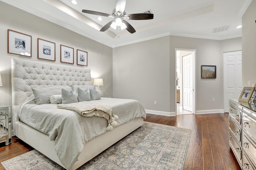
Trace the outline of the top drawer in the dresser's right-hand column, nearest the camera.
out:
M 250 134 L 253 140 L 256 140 L 256 119 L 243 112 L 243 129 Z

